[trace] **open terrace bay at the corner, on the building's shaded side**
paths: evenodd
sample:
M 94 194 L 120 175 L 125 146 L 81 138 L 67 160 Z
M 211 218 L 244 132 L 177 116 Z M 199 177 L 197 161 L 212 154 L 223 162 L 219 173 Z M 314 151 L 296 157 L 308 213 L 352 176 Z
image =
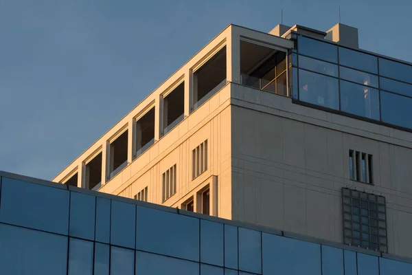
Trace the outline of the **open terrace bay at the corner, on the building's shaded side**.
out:
M 286 52 L 240 41 L 242 85 L 287 96 Z

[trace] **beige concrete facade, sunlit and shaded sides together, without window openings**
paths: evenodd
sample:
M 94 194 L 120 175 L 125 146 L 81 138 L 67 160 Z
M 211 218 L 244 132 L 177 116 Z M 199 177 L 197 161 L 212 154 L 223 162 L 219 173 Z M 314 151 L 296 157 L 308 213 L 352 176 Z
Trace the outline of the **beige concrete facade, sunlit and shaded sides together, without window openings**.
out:
M 292 30 L 293 31 L 293 30 Z M 305 29 L 305 32 L 310 29 Z M 319 33 L 317 33 L 319 35 Z M 342 188 L 386 198 L 390 254 L 412 257 L 412 133 L 299 104 L 287 96 L 242 85 L 240 41 L 289 53 L 295 43 L 229 25 L 158 89 L 105 133 L 53 181 L 77 173 L 102 153 L 100 192 L 133 198 L 148 187 L 148 201 L 184 208 L 211 191 L 210 214 L 343 243 Z M 194 109 L 194 72 L 226 47 L 226 84 Z M 289 64 L 289 57 L 286 57 Z M 163 97 L 184 82 L 185 118 L 162 135 Z M 133 157 L 136 121 L 155 107 L 155 143 Z M 108 179 L 109 146 L 128 131 L 127 165 Z M 192 177 L 192 151 L 207 140 L 207 170 Z M 374 184 L 350 179 L 349 151 L 373 155 Z M 162 199 L 162 174 L 176 164 L 176 193 Z

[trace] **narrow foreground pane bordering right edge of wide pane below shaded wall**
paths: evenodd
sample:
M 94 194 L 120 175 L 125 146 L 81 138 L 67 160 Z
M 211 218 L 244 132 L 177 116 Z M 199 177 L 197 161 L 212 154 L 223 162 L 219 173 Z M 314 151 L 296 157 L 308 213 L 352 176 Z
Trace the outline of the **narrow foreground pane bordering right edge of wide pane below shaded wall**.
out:
M 322 245 L 322 275 L 343 274 L 343 250 Z

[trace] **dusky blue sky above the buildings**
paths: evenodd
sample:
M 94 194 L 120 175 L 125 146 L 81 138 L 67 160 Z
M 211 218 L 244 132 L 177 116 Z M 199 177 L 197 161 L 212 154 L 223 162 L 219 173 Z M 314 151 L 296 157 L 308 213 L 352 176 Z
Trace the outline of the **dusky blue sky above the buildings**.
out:
M 52 179 L 229 23 L 359 29 L 412 61 L 409 0 L 0 1 L 0 170 Z

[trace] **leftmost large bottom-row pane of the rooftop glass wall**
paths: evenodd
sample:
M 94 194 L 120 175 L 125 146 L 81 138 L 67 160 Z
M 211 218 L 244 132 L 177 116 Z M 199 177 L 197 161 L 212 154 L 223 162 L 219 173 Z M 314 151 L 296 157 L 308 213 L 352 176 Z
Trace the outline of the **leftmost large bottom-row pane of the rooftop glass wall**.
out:
M 299 69 L 299 100 L 321 107 L 339 109 L 338 80 Z

